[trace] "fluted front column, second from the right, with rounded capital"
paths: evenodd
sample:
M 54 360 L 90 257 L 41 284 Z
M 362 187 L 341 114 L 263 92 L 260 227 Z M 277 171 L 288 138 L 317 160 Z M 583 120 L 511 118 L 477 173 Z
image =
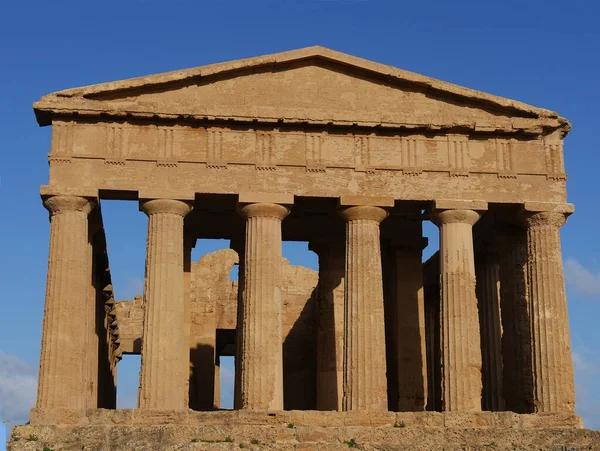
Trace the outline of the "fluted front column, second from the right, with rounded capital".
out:
M 481 348 L 475 296 L 473 210 L 432 215 L 440 229 L 442 408 L 481 410 Z

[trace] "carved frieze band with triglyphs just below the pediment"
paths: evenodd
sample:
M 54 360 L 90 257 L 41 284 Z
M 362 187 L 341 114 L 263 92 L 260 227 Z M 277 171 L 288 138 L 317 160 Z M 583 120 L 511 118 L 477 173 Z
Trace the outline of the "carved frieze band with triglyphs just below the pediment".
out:
M 152 161 L 165 168 L 185 162 L 210 169 L 251 165 L 259 171 L 298 167 L 314 173 L 349 169 L 365 175 L 446 172 L 451 177 L 490 173 L 499 178 L 527 174 L 565 179 L 560 141 L 131 123 L 58 122 L 54 127 L 51 162 L 99 158 L 108 165 Z

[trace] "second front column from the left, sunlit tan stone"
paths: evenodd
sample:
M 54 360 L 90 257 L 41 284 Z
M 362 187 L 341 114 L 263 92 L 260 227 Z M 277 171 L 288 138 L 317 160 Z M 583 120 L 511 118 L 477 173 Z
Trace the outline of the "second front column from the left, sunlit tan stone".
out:
M 191 207 L 171 199 L 141 204 L 148 215 L 141 408 L 187 409 L 183 218 Z

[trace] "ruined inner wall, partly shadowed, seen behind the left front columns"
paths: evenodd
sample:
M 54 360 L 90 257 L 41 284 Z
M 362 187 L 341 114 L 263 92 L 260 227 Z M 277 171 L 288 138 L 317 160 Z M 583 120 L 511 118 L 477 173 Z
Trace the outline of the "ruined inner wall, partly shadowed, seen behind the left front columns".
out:
M 237 322 L 238 283 L 229 279 L 238 255 L 223 249 L 192 263 L 190 290 L 190 407 L 219 408 L 219 355 L 234 355 L 227 340 Z M 317 320 L 314 290 L 318 273 L 282 260 L 284 407 L 316 408 Z M 115 304 L 123 353 L 139 354 L 144 304 L 141 297 Z M 223 333 L 225 332 L 225 333 Z M 218 337 L 224 342 L 218 343 Z M 229 337 L 231 337 L 230 335 Z

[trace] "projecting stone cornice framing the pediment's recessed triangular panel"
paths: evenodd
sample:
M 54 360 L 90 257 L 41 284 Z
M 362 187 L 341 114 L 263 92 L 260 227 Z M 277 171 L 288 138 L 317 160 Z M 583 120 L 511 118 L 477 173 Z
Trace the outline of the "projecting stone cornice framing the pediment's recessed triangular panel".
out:
M 480 108 L 486 112 L 482 117 L 421 117 L 410 114 L 385 117 L 349 117 L 346 115 L 321 114 L 311 117 L 310 111 L 298 115 L 268 114 L 268 110 L 251 111 L 231 108 L 228 111 L 212 111 L 200 106 L 194 110 L 177 111 L 149 107 L 135 102 L 124 103 L 122 99 L 153 93 L 167 93 L 182 86 L 218 83 L 220 80 L 244 77 L 257 71 L 269 72 L 298 65 L 329 65 L 347 71 L 366 80 L 377 80 L 389 86 L 408 87 L 428 98 Z M 157 94 L 158 93 L 158 94 Z M 247 58 L 225 63 L 211 64 L 146 77 L 101 83 L 80 88 L 54 92 L 34 104 L 40 125 L 49 125 L 53 117 L 79 116 L 103 117 L 105 120 L 144 119 L 155 121 L 235 121 L 250 123 L 315 124 L 327 126 L 381 127 L 387 129 L 472 130 L 474 132 L 525 133 L 546 135 L 559 131 L 561 135 L 570 130 L 569 122 L 557 113 L 527 105 L 511 99 L 464 88 L 392 66 L 357 58 L 324 47 L 307 47 L 272 55 Z M 266 112 L 265 112 L 266 111 Z

